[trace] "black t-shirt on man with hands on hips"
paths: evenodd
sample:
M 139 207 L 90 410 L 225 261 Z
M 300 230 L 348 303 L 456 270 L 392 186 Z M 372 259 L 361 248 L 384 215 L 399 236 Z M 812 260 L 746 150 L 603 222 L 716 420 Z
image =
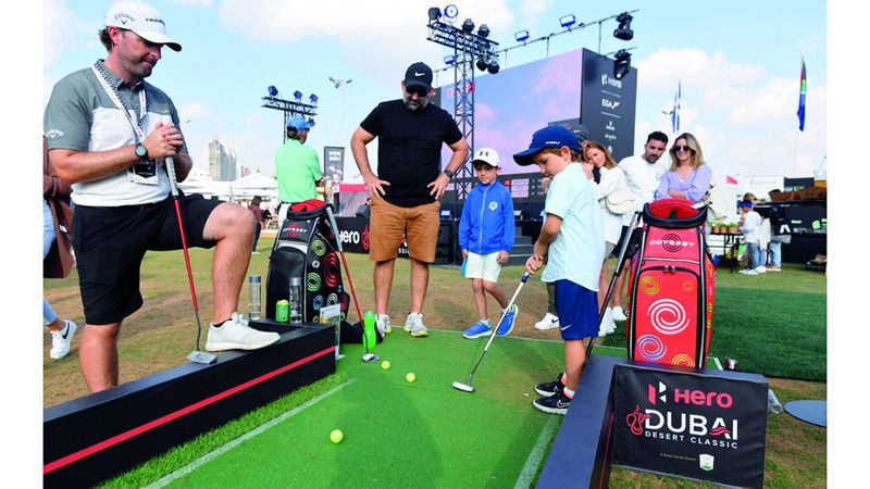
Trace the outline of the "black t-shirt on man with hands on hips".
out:
M 462 139 L 453 117 L 430 103 L 411 112 L 402 100 L 381 102 L 360 126 L 378 138 L 377 176 L 389 181 L 384 199 L 402 208 L 431 203 L 427 184 L 442 172 L 442 145 Z

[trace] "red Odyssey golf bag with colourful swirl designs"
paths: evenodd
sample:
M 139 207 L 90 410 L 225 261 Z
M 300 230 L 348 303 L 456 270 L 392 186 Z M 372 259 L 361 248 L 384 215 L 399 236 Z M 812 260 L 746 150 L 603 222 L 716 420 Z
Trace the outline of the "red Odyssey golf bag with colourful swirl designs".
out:
M 629 358 L 704 367 L 713 318 L 716 267 L 704 233 L 707 209 L 685 199 L 644 205 L 629 275 Z

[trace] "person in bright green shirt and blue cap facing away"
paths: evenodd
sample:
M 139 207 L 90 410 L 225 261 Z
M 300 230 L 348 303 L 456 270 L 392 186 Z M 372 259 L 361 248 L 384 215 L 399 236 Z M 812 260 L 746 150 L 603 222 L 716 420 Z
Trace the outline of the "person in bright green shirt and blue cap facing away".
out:
M 304 146 L 311 124 L 301 115 L 287 120 L 287 139 L 275 151 L 275 177 L 278 180 L 278 230 L 287 218 L 289 204 L 318 198 L 324 183 L 320 159 L 314 148 Z

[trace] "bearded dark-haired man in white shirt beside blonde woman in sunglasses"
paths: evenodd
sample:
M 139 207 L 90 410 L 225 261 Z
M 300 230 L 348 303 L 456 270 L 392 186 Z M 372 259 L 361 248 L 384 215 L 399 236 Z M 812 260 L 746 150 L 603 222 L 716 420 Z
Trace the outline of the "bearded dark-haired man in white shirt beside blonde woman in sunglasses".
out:
M 656 189 L 659 188 L 661 176 L 668 171 L 668 165 L 659 162 L 667 147 L 668 135 L 656 130 L 646 137 L 643 154 L 627 156 L 619 162 L 619 167 L 624 170 L 625 175 L 629 177 L 629 189 L 634 193 L 634 202 L 637 212 L 643 212 L 644 204 L 654 200 Z M 622 236 L 620 237 L 620 242 L 617 244 L 616 252 L 619 252 L 621 249 L 622 240 L 627 239 L 625 235 L 629 233 L 629 224 L 631 224 L 632 214 L 624 214 L 622 218 Z M 611 315 L 614 321 L 625 321 L 625 313 L 620 305 L 620 298 L 625 288 L 625 276 L 627 272 L 629 260 L 625 261 L 625 268 L 617 279 L 614 286 L 616 290 L 611 294 L 610 303 L 608 304 L 612 308 Z

